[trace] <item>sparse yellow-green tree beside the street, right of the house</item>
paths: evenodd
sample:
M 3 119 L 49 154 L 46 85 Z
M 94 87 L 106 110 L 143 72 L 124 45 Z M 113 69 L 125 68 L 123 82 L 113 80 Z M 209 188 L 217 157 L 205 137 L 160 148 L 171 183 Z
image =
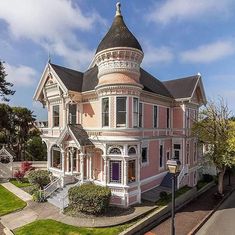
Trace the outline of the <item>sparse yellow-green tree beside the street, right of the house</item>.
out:
M 235 165 L 235 124 L 229 116 L 230 111 L 223 99 L 217 103 L 210 101 L 193 127 L 199 141 L 210 146 L 205 157 L 217 168 L 218 193 L 221 195 L 225 170 Z

